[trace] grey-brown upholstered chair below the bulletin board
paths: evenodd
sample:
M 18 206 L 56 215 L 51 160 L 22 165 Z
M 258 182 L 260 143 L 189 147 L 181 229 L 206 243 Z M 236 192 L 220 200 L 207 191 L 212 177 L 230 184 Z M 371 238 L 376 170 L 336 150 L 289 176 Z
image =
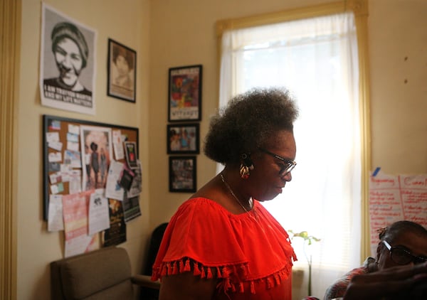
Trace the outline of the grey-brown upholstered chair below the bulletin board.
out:
M 51 262 L 52 300 L 132 300 L 136 299 L 133 284 L 160 288 L 160 283 L 152 282 L 149 276 L 131 275 L 129 256 L 121 247 L 105 247 Z

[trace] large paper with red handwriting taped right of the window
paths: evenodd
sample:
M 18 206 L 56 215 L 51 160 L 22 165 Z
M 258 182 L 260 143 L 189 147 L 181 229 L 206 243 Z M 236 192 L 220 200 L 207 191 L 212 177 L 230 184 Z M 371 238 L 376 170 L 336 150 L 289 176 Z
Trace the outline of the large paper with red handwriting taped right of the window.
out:
M 399 220 L 427 227 L 427 174 L 375 173 L 369 181 L 371 255 L 375 257 L 379 230 Z

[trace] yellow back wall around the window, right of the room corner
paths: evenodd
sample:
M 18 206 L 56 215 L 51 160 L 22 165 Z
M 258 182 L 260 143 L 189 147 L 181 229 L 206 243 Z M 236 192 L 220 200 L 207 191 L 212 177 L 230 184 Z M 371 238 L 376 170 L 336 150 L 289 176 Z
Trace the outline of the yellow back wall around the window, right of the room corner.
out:
M 159 118 L 150 119 L 150 130 L 162 133 L 166 127 L 167 68 L 201 63 L 204 66 L 201 136 L 206 134 L 209 115 L 218 101 L 216 21 L 325 2 L 329 1 L 152 1 L 150 98 L 158 105 L 152 107 L 150 114 Z M 372 165 L 381 166 L 388 173 L 427 172 L 427 21 L 423 17 L 426 14 L 425 0 L 369 1 Z M 404 60 L 406 56 L 408 60 Z M 165 139 L 151 142 L 151 169 L 167 170 L 162 151 L 165 143 Z M 214 173 L 214 164 L 202 155 L 198 156 L 197 164 L 201 186 Z M 155 191 L 150 205 L 152 225 L 168 220 L 187 196 L 168 193 L 164 175 L 150 174 L 150 188 Z

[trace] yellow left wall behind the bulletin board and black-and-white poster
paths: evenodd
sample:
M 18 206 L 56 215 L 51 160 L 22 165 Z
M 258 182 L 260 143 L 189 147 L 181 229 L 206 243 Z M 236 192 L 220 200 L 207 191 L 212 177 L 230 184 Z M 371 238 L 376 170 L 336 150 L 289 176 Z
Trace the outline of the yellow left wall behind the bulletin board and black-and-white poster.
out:
M 63 233 L 47 232 L 42 207 L 42 115 L 87 119 L 139 127 L 139 158 L 149 173 L 149 1 L 50 0 L 70 18 L 97 29 L 96 114 L 78 114 L 41 106 L 38 88 L 41 1 L 23 0 L 21 80 L 19 96 L 18 187 L 18 299 L 50 299 L 49 262 L 63 257 Z M 136 104 L 107 97 L 107 39 L 113 38 L 137 51 Z M 140 205 L 142 217 L 127 225 L 122 244 L 131 257 L 132 271 L 140 272 L 148 238 L 149 181 L 145 175 Z

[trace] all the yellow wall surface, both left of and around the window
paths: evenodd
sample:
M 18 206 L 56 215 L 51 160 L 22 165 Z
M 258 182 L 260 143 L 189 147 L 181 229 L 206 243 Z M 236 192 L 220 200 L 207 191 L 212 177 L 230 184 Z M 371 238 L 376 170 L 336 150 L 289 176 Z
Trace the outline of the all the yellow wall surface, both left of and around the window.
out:
M 49 0 L 47 4 L 97 29 L 95 116 L 40 104 L 38 67 L 41 1 L 22 0 L 19 97 L 18 299 L 50 299 L 48 263 L 62 257 L 63 240 L 46 231 L 42 207 L 41 115 L 139 127 L 142 217 L 127 227 L 132 271 L 139 272 L 149 232 L 169 220 L 189 194 L 168 192 L 166 154 L 168 68 L 203 65 L 201 139 L 218 99 L 215 23 L 325 0 Z M 388 173 L 427 172 L 427 1 L 371 0 L 372 164 Z M 137 51 L 137 103 L 106 96 L 107 38 Z M 407 57 L 407 60 L 404 58 Z M 404 80 L 407 83 L 404 83 Z M 215 165 L 197 157 L 198 186 Z M 291 205 L 291 203 L 290 203 Z M 322 295 L 320 295 L 322 296 Z

